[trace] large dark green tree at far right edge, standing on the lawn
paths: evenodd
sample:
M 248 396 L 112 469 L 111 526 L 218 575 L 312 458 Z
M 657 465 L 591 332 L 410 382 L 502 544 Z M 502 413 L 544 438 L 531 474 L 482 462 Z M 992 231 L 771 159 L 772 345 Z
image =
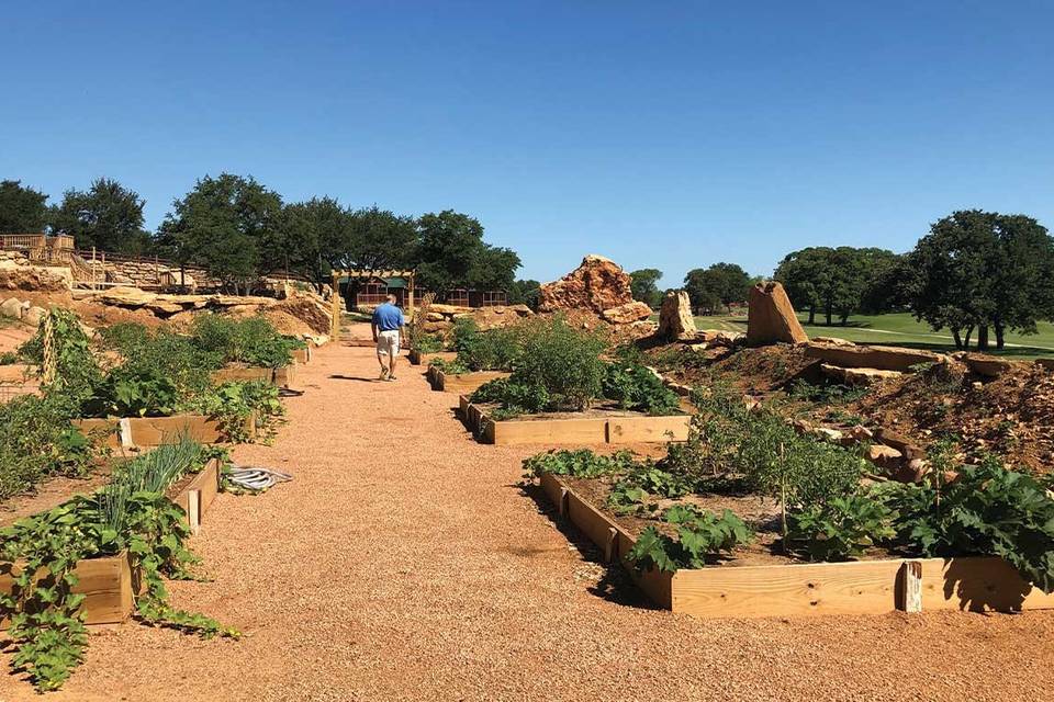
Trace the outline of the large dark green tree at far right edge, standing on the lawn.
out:
M 979 210 L 958 211 L 930 227 L 908 256 L 911 310 L 934 330 L 948 328 L 955 346 L 1005 344 L 1007 329 L 1034 333 L 1054 317 L 1054 239 L 1035 219 Z

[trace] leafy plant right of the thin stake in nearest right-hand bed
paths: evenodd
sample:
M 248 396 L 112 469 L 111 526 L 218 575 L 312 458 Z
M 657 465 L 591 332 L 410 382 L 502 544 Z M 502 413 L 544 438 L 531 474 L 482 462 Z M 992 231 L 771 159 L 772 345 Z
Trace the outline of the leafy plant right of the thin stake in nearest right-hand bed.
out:
M 787 542 L 812 561 L 844 561 L 893 539 L 895 513 L 865 495 L 836 497 L 787 516 Z

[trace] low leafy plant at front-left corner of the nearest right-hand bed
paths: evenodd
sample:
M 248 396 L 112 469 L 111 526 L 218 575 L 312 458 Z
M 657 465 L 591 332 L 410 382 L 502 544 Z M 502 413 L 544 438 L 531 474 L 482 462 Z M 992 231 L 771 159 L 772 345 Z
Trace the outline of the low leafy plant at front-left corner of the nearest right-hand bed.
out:
M 677 505 L 668 509 L 662 518 L 676 528 L 676 537 L 655 526 L 643 530 L 627 554 L 641 570 L 657 568 L 672 573 L 679 568 L 702 568 L 753 539 L 750 528 L 731 510 L 725 510 L 718 517 L 692 506 Z

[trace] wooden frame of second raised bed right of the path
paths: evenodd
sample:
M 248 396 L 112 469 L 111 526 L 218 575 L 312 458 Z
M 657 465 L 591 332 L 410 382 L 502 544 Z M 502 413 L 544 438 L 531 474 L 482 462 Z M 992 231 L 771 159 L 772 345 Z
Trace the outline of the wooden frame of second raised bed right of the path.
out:
M 692 417 L 610 416 L 581 419 L 509 419 L 494 421 L 468 396 L 460 397 L 460 411 L 468 428 L 482 443 L 502 445 L 546 443 L 666 443 L 687 441 Z

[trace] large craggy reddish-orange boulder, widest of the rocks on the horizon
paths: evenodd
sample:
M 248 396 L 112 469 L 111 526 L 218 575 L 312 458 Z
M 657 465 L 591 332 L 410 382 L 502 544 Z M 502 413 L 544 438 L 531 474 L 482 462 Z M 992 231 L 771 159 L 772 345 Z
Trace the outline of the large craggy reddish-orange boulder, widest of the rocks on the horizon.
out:
M 633 302 L 629 284 L 629 273 L 620 265 L 603 256 L 586 256 L 579 268 L 541 286 L 538 309 L 588 309 L 599 315 Z

